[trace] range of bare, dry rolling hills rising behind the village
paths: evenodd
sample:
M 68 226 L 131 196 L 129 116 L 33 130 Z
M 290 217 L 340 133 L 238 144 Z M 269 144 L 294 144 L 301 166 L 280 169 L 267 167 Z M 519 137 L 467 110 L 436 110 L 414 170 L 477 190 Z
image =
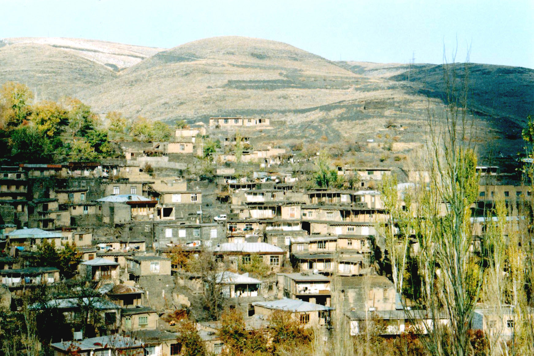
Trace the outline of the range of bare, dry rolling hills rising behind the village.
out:
M 5 43 L 0 83 L 26 83 L 39 98 L 69 94 L 101 114 L 119 110 L 169 122 L 270 117 L 274 129 L 260 133 L 265 143 L 362 143 L 374 161 L 384 147 L 402 154 L 419 146 L 429 107 L 443 109 L 440 66 L 332 62 L 265 39 L 214 37 L 163 51 L 68 38 Z M 517 153 L 532 110 L 532 70 L 471 68 L 475 139 L 500 154 Z

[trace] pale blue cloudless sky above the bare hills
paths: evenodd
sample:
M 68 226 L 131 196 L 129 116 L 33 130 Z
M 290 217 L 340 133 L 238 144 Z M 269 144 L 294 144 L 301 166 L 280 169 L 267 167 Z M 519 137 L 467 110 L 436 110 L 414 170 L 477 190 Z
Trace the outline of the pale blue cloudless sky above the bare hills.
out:
M 0 0 L 0 13 L 0 38 L 172 48 L 237 35 L 329 60 L 441 64 L 456 52 L 456 61 L 469 53 L 473 63 L 534 68 L 534 0 Z

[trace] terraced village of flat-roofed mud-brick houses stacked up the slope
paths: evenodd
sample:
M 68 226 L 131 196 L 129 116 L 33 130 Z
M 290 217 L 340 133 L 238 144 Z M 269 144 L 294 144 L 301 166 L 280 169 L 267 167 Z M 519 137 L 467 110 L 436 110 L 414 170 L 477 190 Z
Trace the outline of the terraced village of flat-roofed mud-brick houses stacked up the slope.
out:
M 446 305 L 436 314 L 421 302 L 414 227 L 414 195 L 435 172 L 336 166 L 325 152 L 256 140 L 271 128 L 265 117 L 212 117 L 166 141 L 120 142 L 120 158 L 1 167 L 4 345 L 20 338 L 13 345 L 58 356 L 219 354 L 238 347 L 237 325 L 268 352 L 280 336 L 266 330 L 282 322 L 299 337 L 349 342 L 447 325 Z M 491 229 L 528 229 L 532 189 L 516 168 L 474 167 L 473 256 L 485 256 Z M 434 208 L 437 218 L 451 209 Z M 514 337 L 511 300 L 498 311 L 475 302 L 470 329 Z M 26 334 L 15 336 L 21 323 Z

